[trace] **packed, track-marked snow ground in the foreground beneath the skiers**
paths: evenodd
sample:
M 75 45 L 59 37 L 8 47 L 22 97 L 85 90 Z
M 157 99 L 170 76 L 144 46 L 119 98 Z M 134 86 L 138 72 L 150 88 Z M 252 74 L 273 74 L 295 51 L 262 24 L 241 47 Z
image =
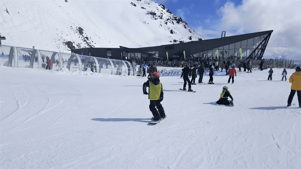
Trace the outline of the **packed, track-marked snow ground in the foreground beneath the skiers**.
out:
M 161 77 L 167 118 L 150 125 L 147 78 L 0 66 L 1 168 L 301 168 L 297 96 L 284 109 L 291 84 L 267 71 L 196 93 Z M 225 85 L 233 107 L 216 104 Z

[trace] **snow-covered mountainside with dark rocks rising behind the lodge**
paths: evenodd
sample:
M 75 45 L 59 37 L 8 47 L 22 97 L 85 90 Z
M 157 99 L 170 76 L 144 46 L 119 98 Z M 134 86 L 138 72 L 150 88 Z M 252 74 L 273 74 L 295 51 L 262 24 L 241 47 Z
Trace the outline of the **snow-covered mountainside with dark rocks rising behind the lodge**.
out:
M 164 5 L 149 0 L 1 1 L 1 9 L 5 5 L 9 14 L 0 10 L 3 45 L 67 51 L 139 48 L 202 38 Z

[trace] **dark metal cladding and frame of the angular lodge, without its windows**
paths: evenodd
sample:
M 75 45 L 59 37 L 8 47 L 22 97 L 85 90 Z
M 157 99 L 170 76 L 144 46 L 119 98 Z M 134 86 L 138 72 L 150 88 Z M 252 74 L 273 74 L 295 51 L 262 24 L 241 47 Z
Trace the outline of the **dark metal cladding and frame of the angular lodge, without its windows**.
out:
M 71 51 L 76 54 L 83 54 L 86 56 L 94 56 L 94 57 L 103 57 L 107 58 L 107 50 L 111 51 L 111 59 L 121 59 L 123 56 L 123 52 L 138 52 L 144 55 L 155 56 L 155 54 L 149 53 L 152 51 L 159 51 L 158 57 L 164 60 L 167 59 L 166 52 L 168 52 L 168 56 L 172 57 L 173 55 L 177 54 L 180 56 L 184 56 L 183 51 L 185 51 L 186 56 L 190 56 L 193 54 L 201 53 L 208 50 L 213 50 L 215 48 L 219 48 L 225 45 L 230 45 L 236 42 L 244 41 L 247 39 L 251 39 L 254 37 L 266 35 L 265 40 L 262 41 L 261 48 L 258 48 L 258 45 L 249 56 L 245 58 L 251 60 L 261 60 L 263 53 L 265 51 L 265 47 L 268 43 L 268 40 L 272 34 L 273 30 L 263 31 L 263 32 L 255 32 L 255 33 L 248 33 L 243 35 L 235 35 L 235 36 L 226 36 L 222 38 L 216 39 L 207 39 L 207 40 L 200 40 L 200 41 L 190 41 L 185 43 L 175 43 L 175 44 L 168 44 L 168 45 L 161 45 L 161 46 L 152 46 L 152 47 L 144 47 L 144 48 L 126 48 L 120 46 L 120 48 L 80 48 L 80 49 L 72 49 Z M 260 50 L 260 51 L 259 51 Z M 259 51 L 256 53 L 256 51 Z M 152 58 L 156 59 L 156 58 Z

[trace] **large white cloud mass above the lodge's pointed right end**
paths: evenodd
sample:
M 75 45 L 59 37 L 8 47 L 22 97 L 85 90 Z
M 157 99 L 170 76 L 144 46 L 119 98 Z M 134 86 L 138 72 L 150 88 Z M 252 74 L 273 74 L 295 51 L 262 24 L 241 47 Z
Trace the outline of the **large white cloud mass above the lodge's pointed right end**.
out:
M 265 50 L 265 57 L 289 56 L 301 60 L 301 1 L 247 1 L 235 6 L 232 2 L 216 12 L 220 20 L 212 21 L 211 30 L 202 26 L 196 31 L 205 39 L 219 38 L 226 31 L 227 36 L 274 30 Z M 276 50 L 277 49 L 277 50 Z M 280 50 L 281 49 L 281 50 Z M 289 58 L 288 57 L 288 58 Z

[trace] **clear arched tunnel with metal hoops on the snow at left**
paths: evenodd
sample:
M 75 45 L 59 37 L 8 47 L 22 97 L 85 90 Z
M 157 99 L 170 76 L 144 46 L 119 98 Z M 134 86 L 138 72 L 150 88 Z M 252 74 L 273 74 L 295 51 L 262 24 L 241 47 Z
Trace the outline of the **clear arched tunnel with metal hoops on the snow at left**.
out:
M 70 71 L 93 71 L 109 75 L 134 75 L 132 64 L 124 60 L 7 45 L 0 45 L 0 64 L 8 67 L 35 69 L 58 69 L 66 67 Z

